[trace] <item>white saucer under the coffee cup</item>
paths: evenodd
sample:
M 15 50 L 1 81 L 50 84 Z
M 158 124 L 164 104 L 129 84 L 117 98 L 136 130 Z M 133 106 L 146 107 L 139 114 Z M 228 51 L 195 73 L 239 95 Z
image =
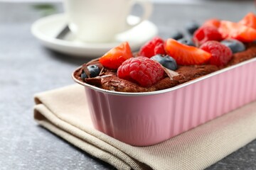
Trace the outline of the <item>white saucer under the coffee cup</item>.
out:
M 129 23 L 139 21 L 137 16 L 129 16 Z M 41 18 L 31 27 L 33 35 L 40 40 L 43 45 L 51 50 L 61 52 L 76 57 L 100 57 L 112 47 L 116 47 L 121 42 L 128 41 L 132 51 L 139 50 L 145 42 L 157 35 L 158 29 L 150 21 L 143 21 L 138 26 L 120 33 L 114 42 L 107 43 L 87 43 L 80 42 L 70 33 L 65 40 L 56 39 L 56 35 L 65 27 L 65 14 L 55 14 Z

